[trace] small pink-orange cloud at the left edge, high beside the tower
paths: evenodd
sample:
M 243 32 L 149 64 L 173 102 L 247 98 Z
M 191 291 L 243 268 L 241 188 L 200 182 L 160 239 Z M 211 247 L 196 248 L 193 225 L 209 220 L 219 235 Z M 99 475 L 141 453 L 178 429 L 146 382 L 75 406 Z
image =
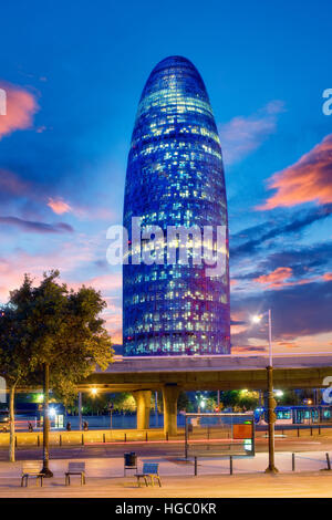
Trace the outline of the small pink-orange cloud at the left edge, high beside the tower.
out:
M 7 114 L 0 115 L 0 139 L 17 129 L 32 126 L 33 115 L 39 106 L 35 97 L 28 91 L 8 83 L 0 83 L 6 91 Z

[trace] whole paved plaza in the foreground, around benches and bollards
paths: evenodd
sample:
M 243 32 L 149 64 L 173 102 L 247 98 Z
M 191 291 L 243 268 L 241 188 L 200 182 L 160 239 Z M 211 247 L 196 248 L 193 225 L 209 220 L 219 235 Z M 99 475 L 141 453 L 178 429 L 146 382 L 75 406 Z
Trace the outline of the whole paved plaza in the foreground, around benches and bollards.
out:
M 84 458 L 82 458 L 84 460 Z M 64 486 L 64 471 L 69 459 L 51 460 L 54 474 L 44 479 L 43 488 L 34 479 L 29 488 L 20 487 L 22 462 L 0 462 L 0 497 L 332 497 L 332 471 L 326 470 L 325 454 L 303 451 L 295 456 L 292 471 L 290 453 L 278 453 L 277 476 L 263 472 L 267 454 L 256 457 L 235 457 L 234 475 L 229 475 L 229 458 L 199 458 L 198 476 L 194 476 L 194 461 L 179 457 L 139 457 L 143 461 L 159 462 L 163 487 L 137 488 L 135 470 L 124 477 L 123 459 L 87 458 L 86 486 L 72 479 Z

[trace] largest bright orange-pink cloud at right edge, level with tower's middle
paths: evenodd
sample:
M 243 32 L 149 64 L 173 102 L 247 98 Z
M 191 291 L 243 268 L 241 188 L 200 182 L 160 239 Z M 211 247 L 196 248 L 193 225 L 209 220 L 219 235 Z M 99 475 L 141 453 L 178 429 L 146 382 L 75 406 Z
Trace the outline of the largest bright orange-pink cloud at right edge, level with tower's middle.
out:
M 291 207 L 310 201 L 332 202 L 332 134 L 295 164 L 274 174 L 268 184 L 269 189 L 277 189 L 277 193 L 257 209 Z

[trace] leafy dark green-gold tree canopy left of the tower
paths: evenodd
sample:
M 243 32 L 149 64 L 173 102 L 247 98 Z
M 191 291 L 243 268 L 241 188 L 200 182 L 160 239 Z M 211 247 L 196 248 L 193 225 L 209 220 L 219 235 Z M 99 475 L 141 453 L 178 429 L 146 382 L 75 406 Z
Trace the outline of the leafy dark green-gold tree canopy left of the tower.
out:
M 59 277 L 59 271 L 44 273 L 34 287 L 25 274 L 10 293 L 0 320 L 0 371 L 7 379 L 24 381 L 30 373 L 40 382 L 48 364 L 53 392 L 70 403 L 76 384 L 96 366 L 105 370 L 113 351 L 101 318 L 106 306 L 101 293 L 84 285 L 74 291 Z

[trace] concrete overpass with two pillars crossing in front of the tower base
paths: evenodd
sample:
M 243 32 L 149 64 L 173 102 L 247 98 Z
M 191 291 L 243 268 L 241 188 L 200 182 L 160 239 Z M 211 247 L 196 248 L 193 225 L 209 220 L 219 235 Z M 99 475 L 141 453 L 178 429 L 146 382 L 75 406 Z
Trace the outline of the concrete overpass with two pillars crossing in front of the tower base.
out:
M 176 433 L 180 391 L 267 389 L 268 356 L 212 355 L 115 357 L 79 387 L 87 392 L 132 392 L 137 403 L 137 427 L 147 428 L 152 391 L 162 391 L 164 429 Z M 273 355 L 274 388 L 319 388 L 332 376 L 332 353 Z

